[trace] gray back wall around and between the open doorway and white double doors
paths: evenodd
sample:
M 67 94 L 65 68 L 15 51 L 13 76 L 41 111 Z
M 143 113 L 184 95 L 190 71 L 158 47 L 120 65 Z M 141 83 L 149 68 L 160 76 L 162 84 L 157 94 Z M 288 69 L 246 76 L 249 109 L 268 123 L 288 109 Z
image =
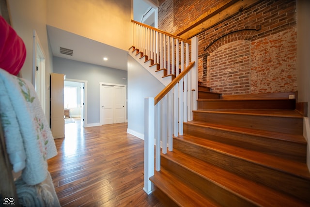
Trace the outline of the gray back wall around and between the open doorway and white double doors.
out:
M 66 79 L 87 80 L 87 123 L 100 123 L 99 82 L 127 85 L 127 71 L 103 67 L 94 64 L 53 58 L 54 73 L 66 75 Z M 122 78 L 126 78 L 123 80 Z

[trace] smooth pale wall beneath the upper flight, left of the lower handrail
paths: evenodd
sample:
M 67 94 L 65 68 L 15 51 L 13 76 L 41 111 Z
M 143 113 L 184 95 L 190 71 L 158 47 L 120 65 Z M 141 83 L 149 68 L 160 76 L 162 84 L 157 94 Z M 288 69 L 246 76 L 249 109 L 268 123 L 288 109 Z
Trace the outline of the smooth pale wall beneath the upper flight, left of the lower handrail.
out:
M 144 98 L 155 97 L 164 85 L 128 55 L 127 132 L 144 139 Z

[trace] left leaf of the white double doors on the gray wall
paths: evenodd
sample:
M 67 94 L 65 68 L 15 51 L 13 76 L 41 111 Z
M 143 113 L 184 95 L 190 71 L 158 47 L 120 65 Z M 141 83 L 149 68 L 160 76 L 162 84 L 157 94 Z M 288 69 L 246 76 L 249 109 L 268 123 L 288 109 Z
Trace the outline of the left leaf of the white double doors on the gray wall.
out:
M 114 124 L 113 117 L 113 86 L 110 85 L 101 85 L 101 94 L 100 94 L 100 103 L 101 103 L 101 123 Z

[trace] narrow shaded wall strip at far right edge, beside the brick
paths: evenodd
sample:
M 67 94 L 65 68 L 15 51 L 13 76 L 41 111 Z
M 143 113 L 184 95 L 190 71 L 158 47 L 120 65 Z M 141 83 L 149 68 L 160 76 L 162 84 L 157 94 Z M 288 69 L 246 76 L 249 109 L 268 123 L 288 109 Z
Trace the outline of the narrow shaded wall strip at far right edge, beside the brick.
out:
M 308 102 L 304 136 L 308 141 L 307 164 L 310 169 L 310 1 L 297 0 L 297 89 L 298 102 Z

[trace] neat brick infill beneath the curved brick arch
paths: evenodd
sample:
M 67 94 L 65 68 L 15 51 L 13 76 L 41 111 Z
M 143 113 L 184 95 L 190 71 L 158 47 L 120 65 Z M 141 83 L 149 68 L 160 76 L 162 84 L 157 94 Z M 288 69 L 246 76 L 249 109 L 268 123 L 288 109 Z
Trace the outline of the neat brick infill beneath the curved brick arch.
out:
M 250 41 L 225 44 L 211 53 L 208 61 L 209 86 L 214 91 L 223 95 L 250 93 Z

